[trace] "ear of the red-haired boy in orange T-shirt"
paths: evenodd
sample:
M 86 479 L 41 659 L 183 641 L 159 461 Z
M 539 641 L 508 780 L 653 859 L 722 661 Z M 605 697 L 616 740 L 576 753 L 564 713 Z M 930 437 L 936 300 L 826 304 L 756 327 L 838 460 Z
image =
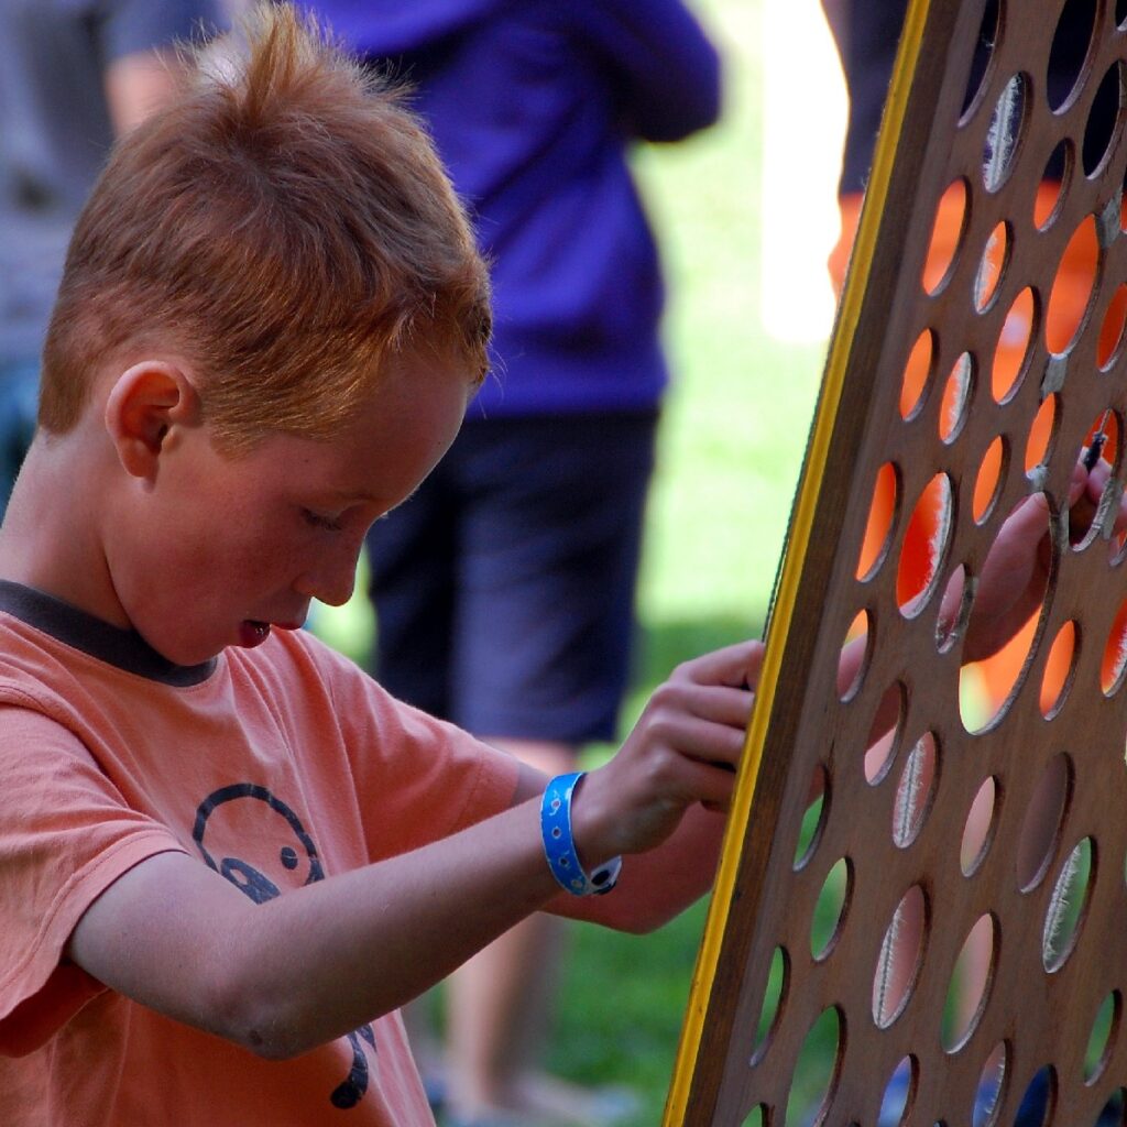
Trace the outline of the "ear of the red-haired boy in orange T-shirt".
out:
M 142 361 L 123 372 L 106 399 L 105 423 L 128 473 L 151 477 L 178 428 L 199 421 L 199 396 L 184 369 Z

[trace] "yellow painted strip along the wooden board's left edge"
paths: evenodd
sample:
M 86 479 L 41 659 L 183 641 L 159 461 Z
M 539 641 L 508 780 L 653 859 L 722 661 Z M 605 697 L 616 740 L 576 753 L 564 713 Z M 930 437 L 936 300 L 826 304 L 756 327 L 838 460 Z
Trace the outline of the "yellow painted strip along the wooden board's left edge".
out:
M 689 1110 L 689 1094 L 696 1067 L 696 1059 L 700 1054 L 706 1009 L 712 992 L 712 983 L 716 978 L 720 948 L 735 893 L 740 850 L 751 819 L 755 786 L 762 763 L 763 746 L 766 742 L 767 721 L 771 717 L 774 695 L 779 685 L 783 642 L 793 619 L 799 579 L 807 549 L 814 533 L 814 512 L 825 476 L 829 441 L 837 416 L 837 405 L 841 402 L 845 369 L 853 348 L 861 304 L 869 276 L 872 272 L 877 230 L 880 225 L 880 216 L 884 213 L 885 202 L 888 197 L 893 163 L 904 127 L 908 91 L 920 57 L 920 47 L 923 41 L 923 29 L 928 21 L 929 7 L 930 0 L 912 0 L 905 19 L 904 32 L 900 36 L 896 66 L 893 72 L 893 81 L 885 107 L 885 118 L 869 177 L 866 207 L 853 247 L 849 282 L 842 296 L 837 327 L 834 332 L 834 339 L 831 343 L 829 356 L 826 362 L 826 372 L 823 380 L 822 398 L 810 437 L 810 449 L 807 453 L 802 485 L 795 506 L 789 542 L 784 549 L 786 556 L 779 583 L 779 593 L 771 616 L 767 647 L 763 659 L 763 668 L 760 674 L 755 709 L 747 729 L 744 758 L 736 780 L 731 814 L 729 815 L 728 827 L 725 833 L 724 849 L 717 870 L 712 902 L 709 906 L 708 920 L 704 924 L 704 937 L 701 941 L 701 949 L 696 959 L 696 970 L 693 976 L 692 992 L 689 997 L 689 1006 L 682 1028 L 677 1061 L 674 1066 L 669 1095 L 666 1101 L 665 1116 L 662 1120 L 663 1127 L 681 1127 Z

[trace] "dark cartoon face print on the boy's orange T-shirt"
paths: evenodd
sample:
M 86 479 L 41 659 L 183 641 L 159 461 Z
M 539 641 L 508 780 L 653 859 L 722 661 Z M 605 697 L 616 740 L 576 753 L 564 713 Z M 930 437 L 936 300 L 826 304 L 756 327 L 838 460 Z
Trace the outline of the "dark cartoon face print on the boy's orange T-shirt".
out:
M 208 868 L 225 877 L 256 904 L 281 896 L 286 888 L 325 879 L 317 845 L 293 809 L 265 787 L 233 783 L 208 795 L 196 810 L 192 829 Z M 205 844 L 206 838 L 206 844 Z M 222 854 L 228 843 L 254 851 L 255 863 Z M 367 1091 L 369 1064 L 364 1046 L 375 1054 L 375 1033 L 370 1024 L 348 1033 L 353 1064 L 348 1076 L 329 1095 L 335 1108 L 355 1107 Z

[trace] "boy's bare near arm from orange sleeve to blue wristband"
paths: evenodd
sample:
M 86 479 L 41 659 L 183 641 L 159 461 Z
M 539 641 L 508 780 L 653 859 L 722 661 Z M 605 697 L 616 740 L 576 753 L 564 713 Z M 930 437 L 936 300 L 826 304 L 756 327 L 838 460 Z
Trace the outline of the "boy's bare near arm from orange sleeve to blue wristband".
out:
M 68 956 L 168 1017 L 289 1057 L 396 1009 L 557 891 L 535 801 L 256 905 L 161 853 L 86 911 Z

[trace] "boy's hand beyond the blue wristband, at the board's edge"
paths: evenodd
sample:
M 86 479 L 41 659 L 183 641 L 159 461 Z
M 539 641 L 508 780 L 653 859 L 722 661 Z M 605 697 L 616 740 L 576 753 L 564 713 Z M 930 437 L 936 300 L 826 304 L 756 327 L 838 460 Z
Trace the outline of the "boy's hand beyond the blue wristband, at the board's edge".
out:
M 618 755 L 576 796 L 585 864 L 659 845 L 698 802 L 728 808 L 762 660 L 762 642 L 740 642 L 684 663 L 654 692 Z

